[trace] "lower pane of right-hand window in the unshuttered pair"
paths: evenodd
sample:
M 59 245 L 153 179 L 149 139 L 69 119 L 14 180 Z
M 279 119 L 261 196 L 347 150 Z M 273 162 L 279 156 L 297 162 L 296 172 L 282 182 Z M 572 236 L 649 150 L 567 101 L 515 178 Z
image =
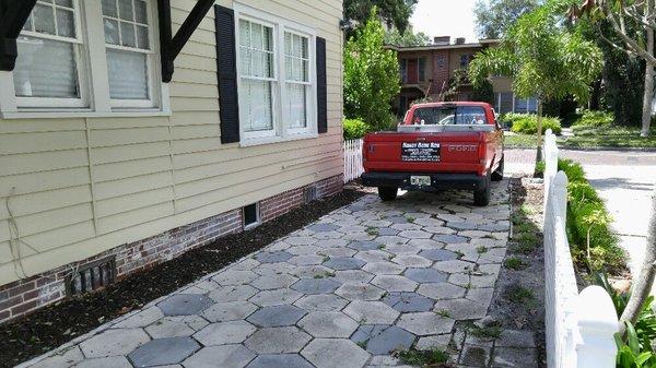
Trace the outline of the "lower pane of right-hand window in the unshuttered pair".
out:
M 147 56 L 107 49 L 109 96 L 117 99 L 148 99 Z

